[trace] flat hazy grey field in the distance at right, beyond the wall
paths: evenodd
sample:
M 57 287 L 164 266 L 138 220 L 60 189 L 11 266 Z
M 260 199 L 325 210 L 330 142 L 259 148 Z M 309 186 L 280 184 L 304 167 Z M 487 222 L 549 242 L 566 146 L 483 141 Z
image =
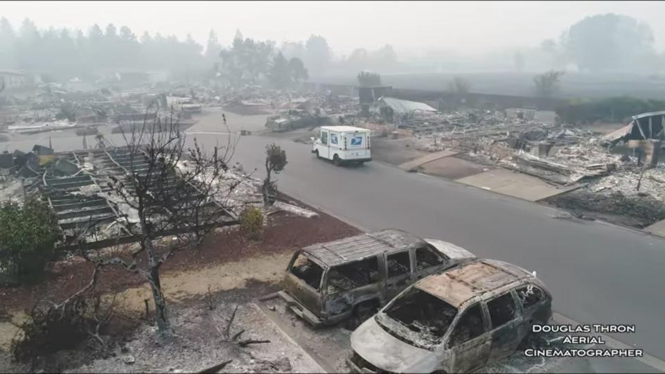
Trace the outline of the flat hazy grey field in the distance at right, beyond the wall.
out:
M 452 78 L 468 80 L 471 91 L 481 94 L 532 96 L 533 76 L 536 73 L 382 73 L 382 83 L 401 89 L 445 91 Z M 330 75 L 312 78 L 314 82 L 355 84 L 355 76 Z M 603 98 L 635 96 L 665 98 L 665 78 L 649 78 L 635 74 L 567 73 L 562 78 L 560 96 L 565 98 Z

